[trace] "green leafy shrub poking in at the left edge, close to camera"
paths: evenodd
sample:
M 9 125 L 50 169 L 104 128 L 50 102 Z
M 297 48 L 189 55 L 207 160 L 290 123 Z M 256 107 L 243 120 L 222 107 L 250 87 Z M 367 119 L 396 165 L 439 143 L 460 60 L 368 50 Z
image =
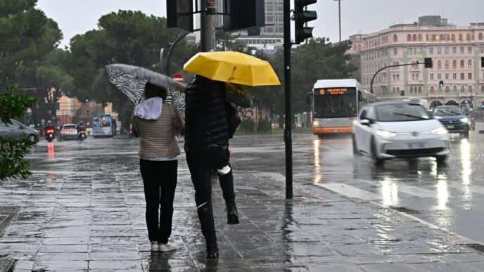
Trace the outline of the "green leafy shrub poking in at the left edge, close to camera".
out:
M 20 96 L 17 87 L 13 86 L 0 94 L 0 119 L 11 124 L 11 118 L 22 117 L 25 109 L 37 103 L 36 98 Z M 30 172 L 30 162 L 23 157 L 30 153 L 30 148 L 35 145 L 27 135 L 23 138 L 0 137 L 0 180 L 9 178 L 27 179 Z

